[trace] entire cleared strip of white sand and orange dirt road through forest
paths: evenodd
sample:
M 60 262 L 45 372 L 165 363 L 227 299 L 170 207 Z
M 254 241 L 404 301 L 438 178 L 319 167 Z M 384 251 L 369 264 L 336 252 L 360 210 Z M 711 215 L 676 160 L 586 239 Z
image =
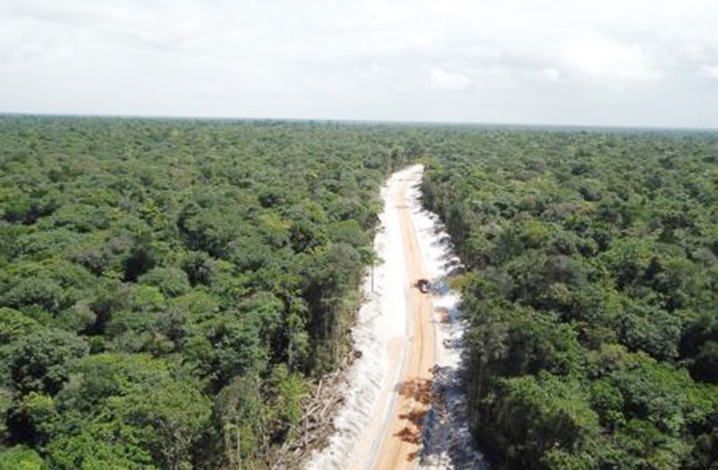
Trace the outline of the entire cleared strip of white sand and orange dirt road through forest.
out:
M 421 165 L 393 173 L 374 248 L 383 260 L 363 284 L 352 332 L 362 352 L 349 370 L 336 432 L 308 469 L 480 468 L 457 384 L 463 323 L 459 297 L 445 288 L 458 265 L 443 226 L 421 207 Z M 419 278 L 438 286 L 414 287 Z M 436 400 L 436 397 L 441 397 Z M 441 403 L 438 405 L 437 403 Z

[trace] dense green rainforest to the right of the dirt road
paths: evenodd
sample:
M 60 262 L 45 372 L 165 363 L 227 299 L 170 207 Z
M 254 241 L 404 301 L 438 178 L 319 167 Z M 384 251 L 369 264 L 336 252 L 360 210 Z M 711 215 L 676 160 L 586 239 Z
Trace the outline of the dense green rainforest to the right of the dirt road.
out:
M 464 129 L 431 153 L 493 466 L 718 468 L 718 134 Z

